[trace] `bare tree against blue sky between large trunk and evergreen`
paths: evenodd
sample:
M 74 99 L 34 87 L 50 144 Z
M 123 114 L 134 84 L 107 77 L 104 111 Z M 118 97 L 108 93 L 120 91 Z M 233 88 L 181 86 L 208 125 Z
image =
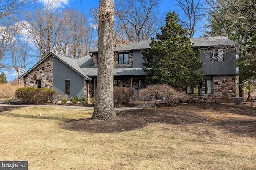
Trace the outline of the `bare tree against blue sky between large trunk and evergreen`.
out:
M 121 21 L 119 29 L 124 29 L 131 42 L 148 40 L 162 25 L 158 14 L 159 0 L 118 0 L 116 16 Z

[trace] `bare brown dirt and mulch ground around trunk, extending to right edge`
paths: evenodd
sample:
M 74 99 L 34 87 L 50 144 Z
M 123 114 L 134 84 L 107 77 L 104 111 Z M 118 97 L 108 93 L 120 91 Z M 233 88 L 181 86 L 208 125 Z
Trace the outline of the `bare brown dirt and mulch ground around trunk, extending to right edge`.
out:
M 93 104 L 87 106 L 94 107 Z M 17 108 L 0 106 L 0 112 Z M 72 131 L 114 133 L 140 129 L 148 123 L 174 125 L 206 123 L 209 126 L 214 126 L 230 133 L 256 138 L 256 107 L 207 103 L 178 104 L 176 106 L 158 104 L 156 112 L 154 112 L 153 107 L 148 107 L 145 109 L 119 111 L 116 112 L 116 115 L 117 119 L 111 121 L 91 120 L 88 118 L 64 122 L 59 126 Z

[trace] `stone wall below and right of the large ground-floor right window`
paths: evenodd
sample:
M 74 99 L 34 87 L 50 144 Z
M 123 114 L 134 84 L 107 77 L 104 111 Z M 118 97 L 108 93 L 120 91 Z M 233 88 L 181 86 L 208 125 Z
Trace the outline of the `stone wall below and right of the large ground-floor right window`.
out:
M 212 79 L 212 94 L 188 94 L 190 102 L 234 102 L 236 96 L 235 75 L 218 75 Z

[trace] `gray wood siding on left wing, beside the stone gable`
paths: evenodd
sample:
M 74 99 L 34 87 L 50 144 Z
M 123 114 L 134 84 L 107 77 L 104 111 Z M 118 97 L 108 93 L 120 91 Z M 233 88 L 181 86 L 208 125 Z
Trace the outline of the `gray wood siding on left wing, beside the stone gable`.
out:
M 70 95 L 84 96 L 84 78 L 62 63 L 56 57 L 53 58 L 53 90 L 57 93 L 65 93 L 65 80 L 70 80 Z

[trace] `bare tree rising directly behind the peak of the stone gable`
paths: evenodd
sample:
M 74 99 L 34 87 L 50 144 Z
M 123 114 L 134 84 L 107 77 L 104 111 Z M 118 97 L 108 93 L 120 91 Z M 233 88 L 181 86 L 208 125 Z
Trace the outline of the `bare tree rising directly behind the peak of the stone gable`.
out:
M 53 8 L 36 9 L 26 12 L 23 26 L 28 31 L 28 39 L 39 51 L 39 58 L 46 57 L 50 52 L 60 51 L 58 34 L 62 23 Z

